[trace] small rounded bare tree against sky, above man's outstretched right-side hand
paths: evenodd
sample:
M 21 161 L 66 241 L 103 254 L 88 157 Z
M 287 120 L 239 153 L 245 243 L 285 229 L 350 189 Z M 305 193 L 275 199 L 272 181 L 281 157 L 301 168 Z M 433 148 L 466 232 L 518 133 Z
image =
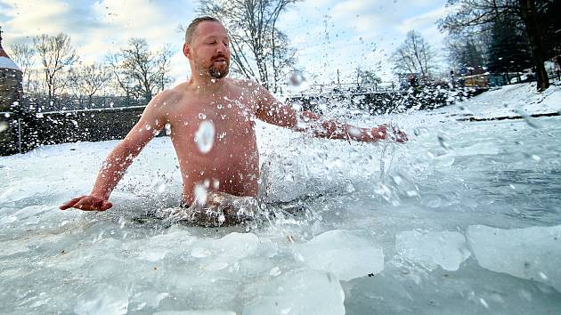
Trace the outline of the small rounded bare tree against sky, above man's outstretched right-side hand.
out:
M 415 30 L 407 33 L 403 44 L 395 50 L 393 59 L 396 72 L 417 73 L 427 78 L 430 77 L 429 71 L 435 68 L 435 51 Z

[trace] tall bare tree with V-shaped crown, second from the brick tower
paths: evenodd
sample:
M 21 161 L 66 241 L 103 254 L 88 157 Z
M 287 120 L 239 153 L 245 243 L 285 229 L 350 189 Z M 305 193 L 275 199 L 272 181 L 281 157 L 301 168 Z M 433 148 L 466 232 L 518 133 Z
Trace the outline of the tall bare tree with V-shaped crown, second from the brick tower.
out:
M 53 100 L 57 92 L 64 88 L 65 80 L 60 77 L 61 72 L 77 61 L 76 51 L 70 44 L 70 37 L 63 33 L 57 36 L 35 36 L 33 43 L 45 72 L 48 98 Z

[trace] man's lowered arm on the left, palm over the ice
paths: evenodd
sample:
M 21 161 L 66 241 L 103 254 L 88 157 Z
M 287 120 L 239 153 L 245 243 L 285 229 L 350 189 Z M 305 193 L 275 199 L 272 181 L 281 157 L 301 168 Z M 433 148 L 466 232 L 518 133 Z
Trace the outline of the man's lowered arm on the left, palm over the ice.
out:
M 92 192 L 89 195 L 71 199 L 61 206 L 61 210 L 74 207 L 85 211 L 105 211 L 113 206 L 109 202 L 110 194 L 123 178 L 126 168 L 133 163 L 133 159 L 166 124 L 166 117 L 161 109 L 161 104 L 164 103 L 166 97 L 166 93 L 160 93 L 154 97 L 144 109 L 138 123 L 110 152 L 97 174 Z

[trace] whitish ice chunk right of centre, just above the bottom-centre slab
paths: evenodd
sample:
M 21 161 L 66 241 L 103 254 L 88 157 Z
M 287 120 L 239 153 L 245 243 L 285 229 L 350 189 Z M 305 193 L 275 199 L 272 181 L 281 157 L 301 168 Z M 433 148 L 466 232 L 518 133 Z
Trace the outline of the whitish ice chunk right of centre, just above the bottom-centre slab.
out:
M 296 252 L 310 268 L 346 281 L 384 270 L 384 253 L 365 230 L 329 230 L 297 245 Z

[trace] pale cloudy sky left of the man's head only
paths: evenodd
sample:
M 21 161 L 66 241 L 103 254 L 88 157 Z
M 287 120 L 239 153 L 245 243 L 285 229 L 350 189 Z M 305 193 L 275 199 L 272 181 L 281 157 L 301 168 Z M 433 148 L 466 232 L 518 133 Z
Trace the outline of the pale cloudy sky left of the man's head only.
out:
M 146 38 L 153 49 L 171 44 L 175 51 L 171 75 L 184 80 L 189 67 L 177 26 L 194 18 L 195 5 L 184 0 L 165 5 L 150 0 L 0 0 L 0 20 L 4 20 L 4 44 L 30 43 L 33 36 L 63 32 L 84 63 L 102 61 L 130 37 Z

